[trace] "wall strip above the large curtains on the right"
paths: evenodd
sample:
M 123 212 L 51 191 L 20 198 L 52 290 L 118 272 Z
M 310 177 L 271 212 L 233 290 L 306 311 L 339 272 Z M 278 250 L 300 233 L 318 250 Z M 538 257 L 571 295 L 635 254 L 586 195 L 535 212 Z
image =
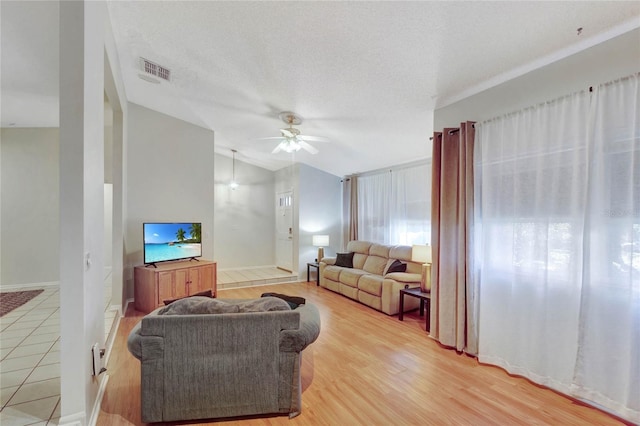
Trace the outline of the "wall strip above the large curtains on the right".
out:
M 434 129 L 458 127 L 552 100 L 640 71 L 640 29 L 470 96 L 434 113 Z

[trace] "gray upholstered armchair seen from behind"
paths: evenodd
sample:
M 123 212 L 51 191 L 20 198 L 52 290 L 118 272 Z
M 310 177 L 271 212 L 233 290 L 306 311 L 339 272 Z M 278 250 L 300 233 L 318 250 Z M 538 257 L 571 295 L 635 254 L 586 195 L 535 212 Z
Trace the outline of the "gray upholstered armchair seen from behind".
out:
M 143 317 L 128 340 L 141 362 L 142 420 L 298 415 L 301 351 L 318 337 L 320 315 L 309 304 L 286 308 Z

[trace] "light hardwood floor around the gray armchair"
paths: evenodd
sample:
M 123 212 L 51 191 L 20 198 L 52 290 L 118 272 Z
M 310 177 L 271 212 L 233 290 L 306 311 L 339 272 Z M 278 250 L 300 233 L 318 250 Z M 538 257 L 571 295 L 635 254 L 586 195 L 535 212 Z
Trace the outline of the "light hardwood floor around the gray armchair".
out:
M 441 347 L 417 311 L 387 316 L 312 283 L 221 290 L 221 298 L 264 292 L 305 297 L 318 306 L 320 337 L 303 352 L 302 414 L 194 421 L 224 425 L 622 425 L 497 367 Z M 120 321 L 97 424 L 142 425 L 140 364 L 126 348 L 143 314 Z

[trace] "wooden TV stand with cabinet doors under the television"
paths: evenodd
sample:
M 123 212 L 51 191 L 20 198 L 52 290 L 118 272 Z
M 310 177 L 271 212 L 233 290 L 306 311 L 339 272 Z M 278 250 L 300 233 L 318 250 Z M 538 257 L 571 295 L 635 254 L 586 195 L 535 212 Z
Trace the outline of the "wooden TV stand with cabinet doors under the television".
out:
M 164 301 L 211 290 L 216 296 L 216 262 L 210 260 L 158 263 L 136 266 L 133 274 L 137 311 L 149 313 Z

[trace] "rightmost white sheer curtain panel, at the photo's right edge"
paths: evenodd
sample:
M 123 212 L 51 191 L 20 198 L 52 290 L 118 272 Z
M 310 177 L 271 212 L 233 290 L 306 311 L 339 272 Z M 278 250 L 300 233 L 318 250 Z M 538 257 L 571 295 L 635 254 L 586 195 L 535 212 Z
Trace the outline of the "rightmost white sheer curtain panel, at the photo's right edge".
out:
M 640 74 L 594 97 L 573 392 L 640 423 Z

